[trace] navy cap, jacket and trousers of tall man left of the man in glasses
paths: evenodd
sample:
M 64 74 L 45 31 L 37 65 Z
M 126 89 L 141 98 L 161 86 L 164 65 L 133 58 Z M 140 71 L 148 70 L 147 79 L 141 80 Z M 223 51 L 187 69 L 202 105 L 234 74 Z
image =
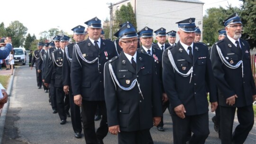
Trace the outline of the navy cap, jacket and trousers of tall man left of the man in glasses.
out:
M 90 28 L 101 28 L 101 20 L 97 17 L 85 22 L 85 24 Z M 116 56 L 117 52 L 113 42 L 100 39 L 101 43 L 96 43 L 97 47 L 89 38 L 74 46 L 71 84 L 73 95 L 82 96 L 82 123 L 85 141 L 87 144 L 95 144 L 98 141 L 102 142 L 108 134 L 103 73 L 104 64 Z M 100 127 L 95 133 L 94 115 L 97 105 L 101 111 L 102 119 Z

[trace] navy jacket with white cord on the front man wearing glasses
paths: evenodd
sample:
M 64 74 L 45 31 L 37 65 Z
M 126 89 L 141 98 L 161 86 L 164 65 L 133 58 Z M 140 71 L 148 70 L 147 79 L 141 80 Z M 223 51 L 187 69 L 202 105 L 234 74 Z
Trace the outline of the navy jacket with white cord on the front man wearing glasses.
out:
M 110 63 L 121 86 L 129 87 L 137 79 L 143 97 L 137 84 L 131 90 L 122 90 L 113 82 Z M 163 115 L 154 59 L 148 54 L 137 53 L 136 63 L 137 71 L 122 52 L 105 64 L 108 125 L 119 125 L 121 131 L 150 129 L 153 126 L 153 117 Z

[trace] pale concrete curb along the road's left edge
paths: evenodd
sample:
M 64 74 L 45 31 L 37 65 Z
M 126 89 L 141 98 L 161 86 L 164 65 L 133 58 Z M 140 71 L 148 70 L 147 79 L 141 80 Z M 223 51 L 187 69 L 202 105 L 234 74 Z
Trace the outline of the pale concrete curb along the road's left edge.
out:
M 12 89 L 14 74 L 15 74 L 15 69 L 13 70 L 13 75 L 10 77 L 9 85 L 8 85 L 8 88 L 7 88 L 7 91 L 6 91 L 8 93 L 8 97 L 11 96 L 11 89 Z M 8 108 L 9 108 L 9 102 L 10 102 L 10 99 L 8 98 L 7 103 L 2 108 L 2 113 L 1 113 L 1 116 L 0 116 L 0 144 L 2 144 L 2 138 L 3 138 L 4 126 L 5 126 L 5 119 L 6 119 L 7 111 L 8 111 Z

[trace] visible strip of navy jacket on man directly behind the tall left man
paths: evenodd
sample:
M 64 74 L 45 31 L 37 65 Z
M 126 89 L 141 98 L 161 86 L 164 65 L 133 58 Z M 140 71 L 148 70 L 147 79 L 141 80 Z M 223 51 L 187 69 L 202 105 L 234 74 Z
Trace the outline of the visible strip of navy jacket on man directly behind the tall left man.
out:
M 67 45 L 64 50 L 64 58 L 63 58 L 63 68 L 62 68 L 62 74 L 63 74 L 63 85 L 71 87 L 71 80 L 70 80 L 70 70 L 71 70 L 71 62 L 67 58 L 66 49 L 68 51 L 68 57 L 72 59 L 73 56 L 73 44 Z

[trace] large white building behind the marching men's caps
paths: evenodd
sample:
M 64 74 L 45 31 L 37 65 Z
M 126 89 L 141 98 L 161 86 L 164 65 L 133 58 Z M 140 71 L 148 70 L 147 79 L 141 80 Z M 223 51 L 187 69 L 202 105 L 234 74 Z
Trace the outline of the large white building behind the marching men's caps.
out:
M 196 26 L 202 32 L 204 3 L 200 0 L 121 0 L 113 4 L 113 14 L 122 5 L 128 5 L 128 3 L 132 5 L 136 15 L 137 31 L 146 26 L 154 31 L 160 27 L 164 27 L 166 32 L 177 31 L 176 22 L 187 18 L 196 18 Z M 178 40 L 179 36 L 177 36 L 176 42 Z

